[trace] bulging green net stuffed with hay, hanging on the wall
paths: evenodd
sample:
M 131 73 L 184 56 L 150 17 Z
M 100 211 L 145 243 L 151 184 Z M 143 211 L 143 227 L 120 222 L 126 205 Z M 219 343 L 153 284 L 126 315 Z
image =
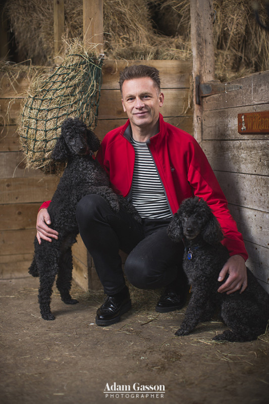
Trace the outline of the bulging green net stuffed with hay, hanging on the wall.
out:
M 73 44 L 63 63 L 49 74 L 37 76 L 21 105 L 18 132 L 28 168 L 55 172 L 51 152 L 68 117 L 96 126 L 103 59 Z

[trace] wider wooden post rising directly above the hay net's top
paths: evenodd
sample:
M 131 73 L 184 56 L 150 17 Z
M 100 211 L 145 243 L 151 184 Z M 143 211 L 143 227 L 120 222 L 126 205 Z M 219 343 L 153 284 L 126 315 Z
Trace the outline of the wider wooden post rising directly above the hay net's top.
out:
M 83 0 L 83 41 L 103 53 L 103 0 Z

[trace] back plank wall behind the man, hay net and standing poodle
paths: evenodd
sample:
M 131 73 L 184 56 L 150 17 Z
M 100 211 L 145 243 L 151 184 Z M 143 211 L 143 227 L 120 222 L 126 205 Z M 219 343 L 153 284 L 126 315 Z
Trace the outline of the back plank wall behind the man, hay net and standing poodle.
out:
M 118 80 L 120 70 L 127 63 L 134 62 L 105 61 L 103 66 L 103 84 L 95 130 L 100 139 L 107 131 L 126 121 Z M 165 94 L 165 104 L 162 108 L 165 119 L 192 133 L 192 111 L 188 108 L 190 62 L 146 63 L 160 71 L 162 90 Z M 40 170 L 25 170 L 24 167 L 23 154 L 19 151 L 16 122 L 21 102 L 18 93 L 28 85 L 27 78 L 20 75 L 16 83 L 11 85 L 6 76 L 0 75 L 0 83 L 0 276 L 10 278 L 28 274 L 27 269 L 33 254 L 36 214 L 42 201 L 51 198 L 59 178 L 44 175 Z M 13 100 L 15 96 L 17 99 Z M 73 248 L 73 253 L 75 280 L 85 290 L 99 287 L 92 260 L 80 238 Z

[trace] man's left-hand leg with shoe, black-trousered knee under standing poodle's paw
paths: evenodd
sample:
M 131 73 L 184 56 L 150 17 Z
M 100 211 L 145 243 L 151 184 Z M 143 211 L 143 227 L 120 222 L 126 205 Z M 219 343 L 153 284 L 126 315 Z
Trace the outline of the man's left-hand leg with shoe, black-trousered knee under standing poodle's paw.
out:
M 143 238 L 142 226 L 124 208 L 115 213 L 96 194 L 86 195 L 79 201 L 77 222 L 107 295 L 97 310 L 95 322 L 100 326 L 117 323 L 131 309 L 119 249 L 129 253 Z

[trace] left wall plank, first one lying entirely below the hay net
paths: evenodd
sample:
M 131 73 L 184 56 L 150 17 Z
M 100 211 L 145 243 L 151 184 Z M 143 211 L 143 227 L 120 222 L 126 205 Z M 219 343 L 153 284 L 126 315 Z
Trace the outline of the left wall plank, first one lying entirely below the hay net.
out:
M 59 177 L 0 178 L 0 204 L 43 202 L 51 199 Z

